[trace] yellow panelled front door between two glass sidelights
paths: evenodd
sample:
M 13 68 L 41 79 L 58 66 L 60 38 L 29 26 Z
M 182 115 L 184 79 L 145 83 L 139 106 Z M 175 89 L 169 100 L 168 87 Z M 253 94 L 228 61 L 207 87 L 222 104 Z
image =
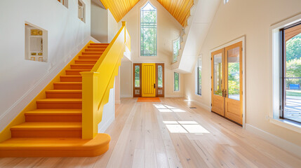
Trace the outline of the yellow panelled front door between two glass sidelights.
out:
M 156 64 L 142 64 L 142 97 L 156 97 Z

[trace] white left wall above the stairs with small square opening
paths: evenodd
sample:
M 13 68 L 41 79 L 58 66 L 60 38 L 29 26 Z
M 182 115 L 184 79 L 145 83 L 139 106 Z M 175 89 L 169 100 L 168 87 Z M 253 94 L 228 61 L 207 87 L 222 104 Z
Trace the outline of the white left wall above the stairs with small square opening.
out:
M 91 39 L 91 1 L 86 23 L 77 18 L 77 0 L 65 8 L 56 0 L 1 1 L 0 131 Z M 25 21 L 48 31 L 48 62 L 25 60 Z

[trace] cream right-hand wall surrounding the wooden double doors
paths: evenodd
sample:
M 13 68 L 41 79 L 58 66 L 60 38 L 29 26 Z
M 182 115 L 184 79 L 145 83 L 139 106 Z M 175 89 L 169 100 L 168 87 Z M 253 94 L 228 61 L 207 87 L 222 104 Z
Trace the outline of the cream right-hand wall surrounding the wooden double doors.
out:
M 202 96 L 195 95 L 195 74 L 185 75 L 185 96 L 204 106 L 211 104 L 210 50 L 246 36 L 246 124 L 301 146 L 301 134 L 269 123 L 272 111 L 272 57 L 269 27 L 301 13 L 300 0 L 221 1 L 201 48 Z M 275 140 L 276 141 L 276 140 Z

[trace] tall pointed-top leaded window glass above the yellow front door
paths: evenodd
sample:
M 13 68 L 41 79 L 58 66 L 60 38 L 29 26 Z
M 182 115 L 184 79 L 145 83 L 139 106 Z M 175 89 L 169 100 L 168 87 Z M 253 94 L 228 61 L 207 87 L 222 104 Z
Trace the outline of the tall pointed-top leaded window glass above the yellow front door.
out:
M 156 8 L 149 2 L 140 10 L 140 55 L 156 56 Z

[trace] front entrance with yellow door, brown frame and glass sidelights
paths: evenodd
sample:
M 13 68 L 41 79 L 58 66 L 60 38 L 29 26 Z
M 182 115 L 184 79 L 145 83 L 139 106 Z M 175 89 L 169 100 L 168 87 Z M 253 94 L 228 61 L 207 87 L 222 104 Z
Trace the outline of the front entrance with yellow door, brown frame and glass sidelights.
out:
M 164 64 L 133 64 L 133 97 L 164 97 Z

